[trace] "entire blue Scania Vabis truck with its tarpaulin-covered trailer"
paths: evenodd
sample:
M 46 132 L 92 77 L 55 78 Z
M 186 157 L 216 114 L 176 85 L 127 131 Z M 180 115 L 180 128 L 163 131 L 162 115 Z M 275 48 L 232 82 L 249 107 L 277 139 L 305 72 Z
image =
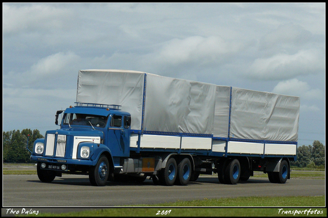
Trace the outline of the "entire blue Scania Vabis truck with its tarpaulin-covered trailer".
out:
M 254 171 L 274 183 L 296 160 L 299 97 L 126 70 L 81 70 L 76 105 L 60 129 L 34 143 L 41 181 L 61 173 L 187 185 L 200 174 L 221 183 Z M 58 115 L 62 111 L 57 111 Z M 82 116 L 83 124 L 74 123 Z

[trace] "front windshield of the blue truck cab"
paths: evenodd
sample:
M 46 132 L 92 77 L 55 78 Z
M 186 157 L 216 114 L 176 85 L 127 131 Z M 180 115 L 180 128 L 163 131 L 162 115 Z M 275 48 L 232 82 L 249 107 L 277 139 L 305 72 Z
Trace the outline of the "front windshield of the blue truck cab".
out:
M 90 114 L 65 114 L 64 124 L 68 125 L 88 125 L 94 127 L 105 127 L 108 117 Z M 90 124 L 91 123 L 91 124 Z

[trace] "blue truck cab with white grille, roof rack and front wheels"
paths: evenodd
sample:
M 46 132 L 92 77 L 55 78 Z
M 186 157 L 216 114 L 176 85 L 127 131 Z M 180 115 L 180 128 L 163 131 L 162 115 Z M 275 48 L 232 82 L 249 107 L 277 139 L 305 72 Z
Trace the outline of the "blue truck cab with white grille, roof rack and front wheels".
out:
M 31 160 L 37 161 L 39 179 L 51 182 L 61 173 L 71 173 L 89 175 L 91 184 L 105 185 L 120 158 L 130 155 L 130 125 L 131 115 L 119 105 L 70 106 L 60 129 L 48 130 L 44 139 L 34 142 Z

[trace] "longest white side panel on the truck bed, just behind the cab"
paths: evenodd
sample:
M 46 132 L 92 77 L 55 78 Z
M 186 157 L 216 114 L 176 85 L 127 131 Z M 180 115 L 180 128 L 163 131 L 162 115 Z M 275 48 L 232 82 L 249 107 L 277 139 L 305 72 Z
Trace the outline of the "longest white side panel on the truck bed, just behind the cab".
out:
M 142 135 L 140 140 L 140 148 L 180 148 L 178 136 Z

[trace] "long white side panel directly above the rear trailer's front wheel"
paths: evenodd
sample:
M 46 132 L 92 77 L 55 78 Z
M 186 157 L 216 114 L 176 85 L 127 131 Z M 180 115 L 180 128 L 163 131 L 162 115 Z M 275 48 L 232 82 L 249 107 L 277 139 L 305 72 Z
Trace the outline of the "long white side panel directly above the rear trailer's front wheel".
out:
M 263 154 L 264 144 L 253 142 L 228 142 L 228 153 Z

